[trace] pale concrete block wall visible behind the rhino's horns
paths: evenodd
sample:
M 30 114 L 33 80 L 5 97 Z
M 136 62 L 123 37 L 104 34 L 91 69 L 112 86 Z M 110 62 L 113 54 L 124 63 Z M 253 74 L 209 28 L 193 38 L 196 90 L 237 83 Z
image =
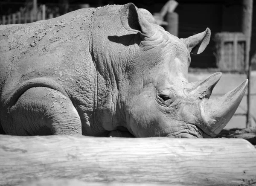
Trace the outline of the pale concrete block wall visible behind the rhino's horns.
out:
M 201 80 L 207 76 L 210 76 L 212 73 L 189 73 L 189 82 Z M 220 81 L 214 87 L 212 91 L 212 96 L 210 99 L 214 97 L 219 97 L 224 95 L 236 88 L 239 84 L 241 84 L 247 76 L 245 74 L 231 74 L 231 73 L 223 73 Z M 250 114 L 256 118 L 256 71 L 252 71 L 251 73 L 251 105 L 250 105 Z M 239 107 L 236 110 L 236 113 L 227 124 L 225 128 L 245 128 L 246 126 L 246 114 L 247 113 L 247 91 L 242 99 Z M 255 121 L 252 120 L 252 126 L 256 126 Z

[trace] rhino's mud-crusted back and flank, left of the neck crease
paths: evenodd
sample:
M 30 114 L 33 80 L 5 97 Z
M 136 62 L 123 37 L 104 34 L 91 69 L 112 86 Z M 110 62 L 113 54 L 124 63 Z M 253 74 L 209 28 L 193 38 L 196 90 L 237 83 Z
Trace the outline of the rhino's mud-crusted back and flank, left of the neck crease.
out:
M 45 79 L 41 86 L 52 81 L 69 89 L 76 79 L 92 73 L 89 48 L 94 11 L 80 9 L 50 20 L 0 26 L 1 99 L 9 99 L 24 84 L 33 84 L 33 79 L 37 84 L 38 78 Z

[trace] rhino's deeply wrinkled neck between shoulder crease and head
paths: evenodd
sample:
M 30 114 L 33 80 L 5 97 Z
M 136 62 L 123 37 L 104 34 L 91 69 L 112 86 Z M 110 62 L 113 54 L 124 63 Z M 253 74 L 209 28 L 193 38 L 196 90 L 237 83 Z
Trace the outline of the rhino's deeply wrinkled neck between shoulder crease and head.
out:
M 95 121 L 105 130 L 112 131 L 119 126 L 126 127 L 123 106 L 128 90 L 128 73 L 140 39 L 139 35 L 122 27 L 119 8 L 109 8 L 115 9 L 95 12 L 90 52 L 97 73 Z M 104 18 L 100 20 L 97 17 Z

